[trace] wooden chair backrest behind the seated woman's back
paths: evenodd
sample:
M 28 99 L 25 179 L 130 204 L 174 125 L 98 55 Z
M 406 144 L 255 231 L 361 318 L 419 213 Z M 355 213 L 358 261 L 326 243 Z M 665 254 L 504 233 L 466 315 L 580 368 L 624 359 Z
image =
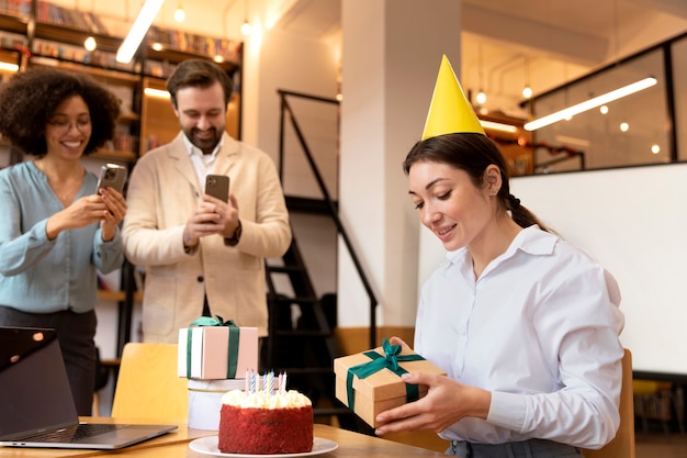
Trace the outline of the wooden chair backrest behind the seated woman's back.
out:
M 620 389 L 620 426 L 616 437 L 598 450 L 583 450 L 586 458 L 635 458 L 634 399 L 632 390 L 632 354 L 626 348 L 622 357 Z

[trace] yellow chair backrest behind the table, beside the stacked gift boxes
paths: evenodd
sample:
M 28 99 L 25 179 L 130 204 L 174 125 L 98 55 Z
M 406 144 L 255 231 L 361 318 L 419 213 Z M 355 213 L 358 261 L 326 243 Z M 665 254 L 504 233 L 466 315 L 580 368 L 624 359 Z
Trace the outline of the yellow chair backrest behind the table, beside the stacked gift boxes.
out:
M 177 345 L 128 343 L 114 391 L 112 416 L 185 423 L 188 381 L 177 377 Z

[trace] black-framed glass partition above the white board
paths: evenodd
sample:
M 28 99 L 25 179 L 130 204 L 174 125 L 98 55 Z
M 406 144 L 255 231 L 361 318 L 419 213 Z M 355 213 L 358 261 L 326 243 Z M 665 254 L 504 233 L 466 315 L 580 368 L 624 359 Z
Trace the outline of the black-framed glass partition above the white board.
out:
M 672 66 L 666 66 L 664 52 L 672 49 Z M 666 78 L 672 71 L 673 85 Z M 539 149 L 534 156 L 534 174 L 565 170 L 598 169 L 687 159 L 687 152 L 675 152 L 673 114 L 668 100 L 675 93 L 676 130 L 687 143 L 687 40 L 672 46 L 656 46 L 617 65 L 581 78 L 563 88 L 532 100 L 533 118 L 540 118 L 646 77 L 657 83 L 649 89 L 609 102 L 533 132 L 538 143 L 565 146 L 582 152 L 583 158 L 551 160 L 551 154 Z M 679 109 L 679 110 L 678 110 Z M 683 120 L 682 123 L 678 122 Z

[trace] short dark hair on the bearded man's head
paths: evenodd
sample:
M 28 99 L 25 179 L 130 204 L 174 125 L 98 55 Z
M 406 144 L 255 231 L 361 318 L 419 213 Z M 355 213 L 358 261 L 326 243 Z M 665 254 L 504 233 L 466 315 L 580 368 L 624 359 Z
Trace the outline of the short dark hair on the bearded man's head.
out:
M 177 91 L 188 87 L 209 88 L 215 82 L 224 89 L 224 105 L 232 100 L 234 81 L 219 66 L 203 59 L 187 59 L 179 64 L 167 80 L 167 90 L 171 102 L 177 108 Z

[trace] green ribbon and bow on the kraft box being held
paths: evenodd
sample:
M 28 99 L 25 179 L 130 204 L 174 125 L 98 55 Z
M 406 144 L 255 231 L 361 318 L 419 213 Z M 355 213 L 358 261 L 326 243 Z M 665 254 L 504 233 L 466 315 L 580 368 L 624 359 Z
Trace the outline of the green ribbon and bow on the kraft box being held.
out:
M 353 366 L 348 369 L 346 375 L 346 391 L 348 394 L 348 407 L 354 411 L 353 405 L 353 378 L 364 379 L 373 373 L 379 372 L 382 369 L 388 369 L 398 377 L 403 373 L 407 373 L 407 370 L 398 366 L 398 362 L 403 361 L 421 361 L 425 358 L 417 354 L 401 355 L 401 345 L 391 345 L 386 337 L 382 342 L 382 349 L 384 355 L 380 355 L 376 351 L 363 351 L 363 355 L 371 358 L 370 362 L 363 362 L 358 366 Z M 420 398 L 419 387 L 417 384 L 406 383 L 406 401 L 417 401 Z

